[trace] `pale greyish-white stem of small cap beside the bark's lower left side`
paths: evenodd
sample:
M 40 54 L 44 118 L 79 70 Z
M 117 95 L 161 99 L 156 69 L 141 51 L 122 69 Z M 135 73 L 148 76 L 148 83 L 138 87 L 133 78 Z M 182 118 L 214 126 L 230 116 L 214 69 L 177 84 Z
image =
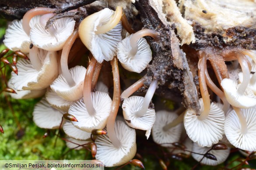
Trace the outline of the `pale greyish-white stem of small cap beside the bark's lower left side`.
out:
M 144 97 L 144 100 L 143 100 L 143 104 L 142 104 L 141 109 L 140 109 L 139 111 L 135 112 L 135 115 L 136 115 L 137 117 L 142 117 L 142 116 L 144 116 L 144 115 L 146 114 L 147 109 L 148 109 L 148 106 L 149 106 L 149 104 L 150 104 L 150 102 L 151 102 L 151 99 L 152 99 L 152 97 L 153 97 L 153 95 L 154 95 L 154 92 L 155 92 L 155 89 L 156 89 L 157 87 L 158 87 L 158 80 L 157 80 L 157 79 L 154 79 L 154 80 L 151 82 L 151 84 L 150 84 L 150 86 L 149 86 L 149 88 L 148 88 L 148 90 L 147 90 L 147 93 L 146 93 L 146 95 L 145 95 L 145 97 Z

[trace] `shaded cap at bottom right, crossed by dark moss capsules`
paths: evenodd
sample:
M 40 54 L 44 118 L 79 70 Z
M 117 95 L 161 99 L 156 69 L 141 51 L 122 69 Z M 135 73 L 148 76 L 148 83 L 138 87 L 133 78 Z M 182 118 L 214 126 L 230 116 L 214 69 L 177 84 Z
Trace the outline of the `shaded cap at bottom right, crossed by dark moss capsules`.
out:
M 211 147 L 200 147 L 196 143 L 194 143 L 192 151 L 196 153 L 204 154 L 208 150 L 210 150 L 210 148 Z M 210 152 L 208 152 L 216 156 L 217 160 L 211 160 L 206 157 L 203 158 L 203 155 L 199 155 L 196 153 L 192 153 L 192 157 L 197 161 L 200 161 L 203 158 L 201 162 L 202 164 L 215 166 L 223 163 L 228 158 L 229 152 L 230 152 L 230 148 L 228 148 L 227 150 L 211 150 Z

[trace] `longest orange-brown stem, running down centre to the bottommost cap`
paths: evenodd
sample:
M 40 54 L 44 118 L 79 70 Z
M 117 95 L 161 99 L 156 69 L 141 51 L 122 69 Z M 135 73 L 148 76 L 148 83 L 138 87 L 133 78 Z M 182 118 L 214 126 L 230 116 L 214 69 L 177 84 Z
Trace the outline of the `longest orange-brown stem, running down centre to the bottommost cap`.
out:
M 112 142 L 112 144 L 115 147 L 119 147 L 121 145 L 119 139 L 116 137 L 116 131 L 115 131 L 115 120 L 116 115 L 119 109 L 120 104 L 120 80 L 119 80 L 119 70 L 118 70 L 118 60 L 116 57 L 113 58 L 111 61 L 112 65 L 112 73 L 113 73 L 113 82 L 114 82 L 114 94 L 113 94 L 113 100 L 111 105 L 111 112 L 109 115 L 109 118 L 107 120 L 107 130 L 109 139 Z

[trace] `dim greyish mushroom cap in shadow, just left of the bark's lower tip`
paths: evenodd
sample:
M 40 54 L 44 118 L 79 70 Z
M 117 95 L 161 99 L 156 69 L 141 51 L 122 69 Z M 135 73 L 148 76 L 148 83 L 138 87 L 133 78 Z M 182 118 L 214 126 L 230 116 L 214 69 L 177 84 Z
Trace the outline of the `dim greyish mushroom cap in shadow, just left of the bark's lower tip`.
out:
M 156 113 L 156 121 L 152 128 L 153 140 L 155 143 L 162 144 L 164 147 L 171 147 L 171 143 L 179 141 L 180 135 L 182 133 L 182 123 L 174 126 L 167 131 L 163 130 L 163 127 L 170 122 L 175 121 L 178 115 L 175 112 L 167 112 L 165 110 L 158 111 Z

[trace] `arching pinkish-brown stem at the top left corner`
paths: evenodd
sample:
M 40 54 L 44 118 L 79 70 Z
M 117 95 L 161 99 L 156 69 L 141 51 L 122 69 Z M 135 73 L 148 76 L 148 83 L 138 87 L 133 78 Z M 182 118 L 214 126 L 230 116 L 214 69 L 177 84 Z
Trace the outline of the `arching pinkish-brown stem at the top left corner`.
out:
M 32 19 L 32 17 L 35 17 L 36 15 L 53 13 L 55 10 L 56 9 L 53 8 L 37 7 L 26 12 L 22 19 L 22 27 L 25 33 L 29 35 L 29 31 L 31 29 L 29 26 L 29 21 Z

